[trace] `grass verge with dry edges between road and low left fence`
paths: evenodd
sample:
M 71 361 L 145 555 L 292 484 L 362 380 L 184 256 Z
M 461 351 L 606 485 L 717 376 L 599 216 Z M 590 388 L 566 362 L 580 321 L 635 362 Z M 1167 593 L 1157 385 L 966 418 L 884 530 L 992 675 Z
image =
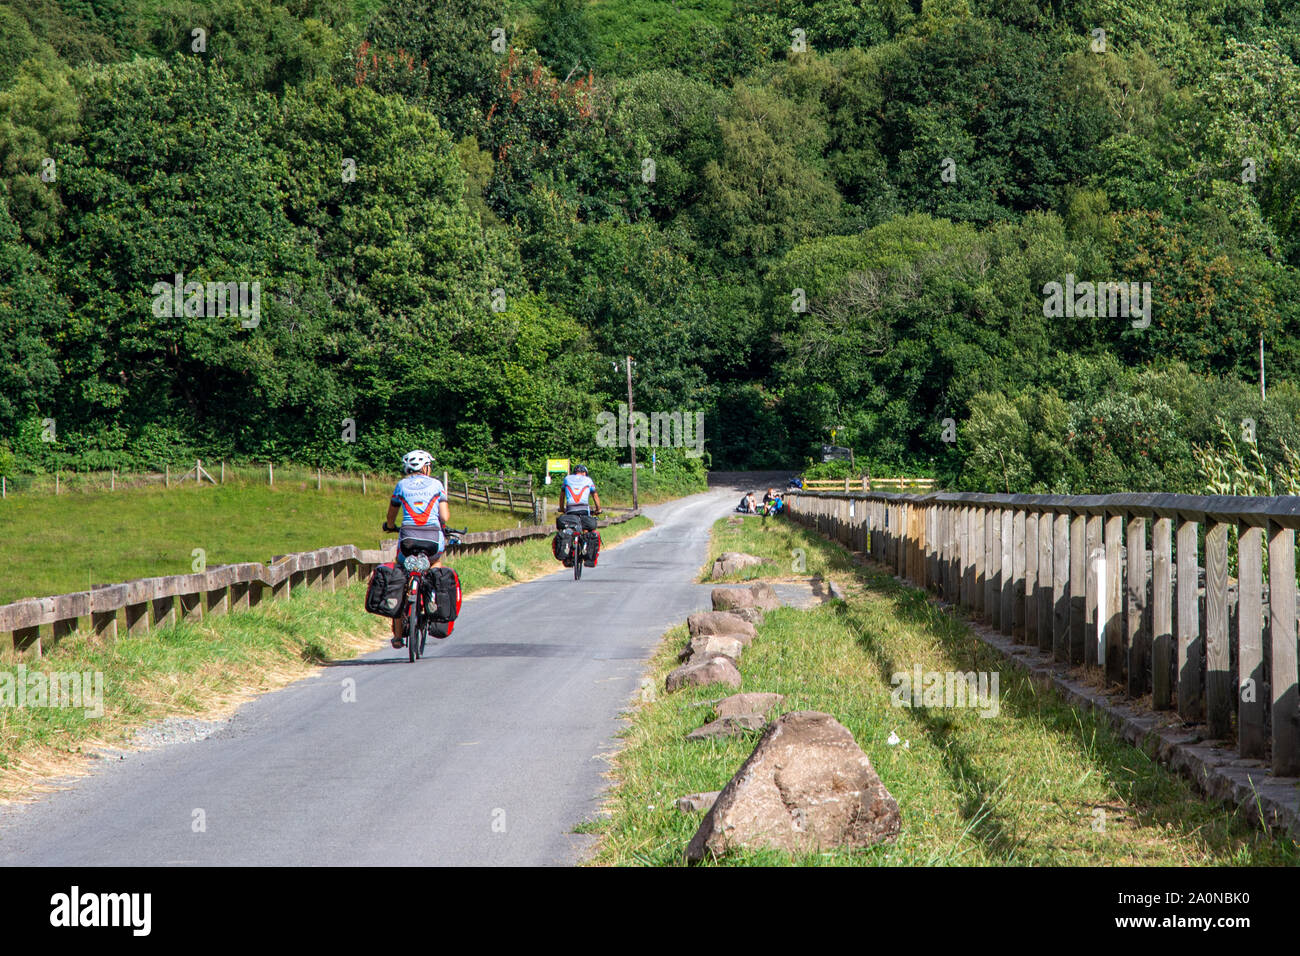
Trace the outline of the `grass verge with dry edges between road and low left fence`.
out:
M 645 531 L 647 518 L 603 528 L 606 548 Z M 465 594 L 528 580 L 559 567 L 549 538 L 452 562 Z M 0 800 L 32 796 L 60 774 L 92 766 L 104 747 L 130 747 L 134 731 L 165 717 L 220 718 L 239 704 L 298 680 L 322 662 L 376 650 L 389 622 L 363 609 L 364 583 L 335 593 L 300 592 L 247 611 L 148 635 L 99 641 L 78 631 L 39 661 L 0 649 L 0 679 L 32 672 L 103 674 L 103 714 L 84 708 L 0 705 Z M 471 606 L 467 611 L 472 614 Z M 455 640 L 455 636 L 452 636 Z M 30 685 L 30 684 L 29 684 Z M 4 697 L 0 696 L 0 701 Z

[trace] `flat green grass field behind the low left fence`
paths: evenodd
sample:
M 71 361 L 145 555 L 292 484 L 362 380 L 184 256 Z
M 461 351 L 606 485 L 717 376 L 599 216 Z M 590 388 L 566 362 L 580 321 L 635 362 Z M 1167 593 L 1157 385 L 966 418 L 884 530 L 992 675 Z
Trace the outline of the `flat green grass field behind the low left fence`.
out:
M 378 548 L 391 486 L 368 494 L 309 481 L 22 494 L 0 502 L 0 604 L 135 578 L 269 561 L 332 545 Z M 519 514 L 451 502 L 451 524 L 514 528 Z

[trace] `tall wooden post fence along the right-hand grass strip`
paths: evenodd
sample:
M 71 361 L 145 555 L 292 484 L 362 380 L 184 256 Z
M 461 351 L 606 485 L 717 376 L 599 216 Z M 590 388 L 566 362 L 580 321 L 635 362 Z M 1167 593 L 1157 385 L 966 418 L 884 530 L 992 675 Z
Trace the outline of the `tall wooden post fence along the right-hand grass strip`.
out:
M 1013 640 L 1300 775 L 1300 498 L 805 492 L 786 505 Z

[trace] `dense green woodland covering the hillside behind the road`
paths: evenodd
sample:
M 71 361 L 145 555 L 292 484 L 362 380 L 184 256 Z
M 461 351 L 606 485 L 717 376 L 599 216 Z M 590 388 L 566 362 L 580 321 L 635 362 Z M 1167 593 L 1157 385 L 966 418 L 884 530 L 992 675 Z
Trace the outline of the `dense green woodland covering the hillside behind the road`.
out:
M 612 463 L 633 355 L 715 468 L 1200 490 L 1300 447 L 1297 64 L 1290 0 L 3 0 L 0 471 Z

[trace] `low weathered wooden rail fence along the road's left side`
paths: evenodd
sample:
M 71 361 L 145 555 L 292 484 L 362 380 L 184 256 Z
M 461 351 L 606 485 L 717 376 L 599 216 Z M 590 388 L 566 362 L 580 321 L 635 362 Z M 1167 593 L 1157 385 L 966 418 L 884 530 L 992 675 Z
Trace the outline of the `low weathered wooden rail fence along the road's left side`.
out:
M 637 514 L 640 512 L 625 511 L 603 519 L 599 524 L 619 524 Z M 474 532 L 462 538 L 460 546 L 450 551 L 447 561 L 455 566 L 459 555 L 490 551 L 526 538 L 547 537 L 554 531 L 550 525 L 529 525 Z M 390 538 L 378 549 L 338 545 L 281 554 L 268 564 L 222 564 L 196 574 L 142 578 L 125 584 L 101 584 L 70 594 L 16 601 L 0 605 L 0 641 L 8 636 L 16 649 L 29 650 L 39 657 L 43 640 L 57 641 L 82 626 L 88 626 L 101 639 L 113 639 L 118 633 L 120 619 L 127 633 L 139 635 L 177 620 L 202 620 L 254 607 L 265 600 L 287 601 L 303 588 L 337 591 L 358 579 L 369 578 L 376 564 L 393 561 L 395 554 L 396 538 Z

